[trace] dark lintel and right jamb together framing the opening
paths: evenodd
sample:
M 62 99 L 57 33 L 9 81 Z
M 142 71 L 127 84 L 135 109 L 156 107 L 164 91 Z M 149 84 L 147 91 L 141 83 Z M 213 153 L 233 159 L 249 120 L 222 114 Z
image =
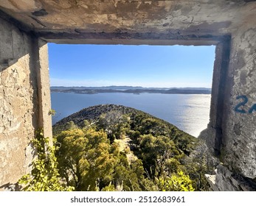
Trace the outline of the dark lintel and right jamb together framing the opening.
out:
M 162 35 L 156 33 L 131 34 L 83 34 L 70 35 L 40 32 L 39 36 L 47 43 L 59 44 L 111 44 L 111 45 L 159 45 L 159 46 L 215 46 L 215 61 L 212 74 L 212 93 L 210 102 L 210 121 L 207 129 L 201 132 L 207 146 L 217 157 L 221 154 L 221 140 L 224 130 L 225 103 L 229 101 L 226 93 L 230 90 L 228 79 L 229 55 L 231 50 L 231 35 Z M 112 38 L 111 38 L 112 37 Z

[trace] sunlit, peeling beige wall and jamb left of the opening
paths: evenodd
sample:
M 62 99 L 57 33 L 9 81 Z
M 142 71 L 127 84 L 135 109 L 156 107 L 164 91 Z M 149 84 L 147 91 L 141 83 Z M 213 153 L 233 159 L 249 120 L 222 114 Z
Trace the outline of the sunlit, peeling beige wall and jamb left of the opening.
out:
M 46 43 L 0 18 L 0 190 L 30 171 L 35 129 L 51 136 L 49 108 Z

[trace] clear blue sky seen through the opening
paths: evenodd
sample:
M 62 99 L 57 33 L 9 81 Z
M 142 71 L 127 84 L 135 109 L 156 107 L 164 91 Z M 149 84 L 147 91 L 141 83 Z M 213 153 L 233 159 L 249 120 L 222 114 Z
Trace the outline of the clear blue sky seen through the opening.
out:
M 212 86 L 215 46 L 48 46 L 51 86 Z

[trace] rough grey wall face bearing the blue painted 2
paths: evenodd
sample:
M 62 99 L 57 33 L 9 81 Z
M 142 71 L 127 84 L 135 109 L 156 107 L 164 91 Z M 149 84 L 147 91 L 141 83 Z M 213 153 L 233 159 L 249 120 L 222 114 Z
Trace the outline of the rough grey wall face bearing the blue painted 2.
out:
M 232 171 L 256 178 L 256 29 L 244 26 L 232 38 L 221 160 Z M 229 89 L 228 88 L 228 89 Z

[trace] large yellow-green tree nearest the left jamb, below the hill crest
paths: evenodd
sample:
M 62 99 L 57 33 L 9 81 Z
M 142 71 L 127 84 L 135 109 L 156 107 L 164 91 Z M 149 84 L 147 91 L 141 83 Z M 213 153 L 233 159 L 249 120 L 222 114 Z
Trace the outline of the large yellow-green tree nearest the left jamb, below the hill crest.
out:
M 60 174 L 77 191 L 95 191 L 109 185 L 117 162 L 117 153 L 103 130 L 70 129 L 57 137 L 60 149 L 56 153 Z

